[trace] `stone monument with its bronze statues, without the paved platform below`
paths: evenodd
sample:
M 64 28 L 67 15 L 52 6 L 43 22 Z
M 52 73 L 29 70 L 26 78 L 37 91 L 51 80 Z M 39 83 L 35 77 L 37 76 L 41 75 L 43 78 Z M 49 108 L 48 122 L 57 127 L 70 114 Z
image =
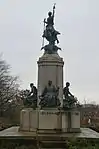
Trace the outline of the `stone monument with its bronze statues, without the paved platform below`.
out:
M 35 107 L 29 105 L 21 111 L 20 131 L 80 132 L 77 100 L 69 92 L 69 82 L 63 88 L 64 61 L 58 54 L 61 48 L 56 44 L 59 43 L 57 36 L 60 33 L 54 28 L 54 17 L 55 5 L 53 12 L 48 13 L 47 20 L 44 19 L 43 44 L 44 39 L 49 43 L 42 46 L 44 53 L 37 62 L 38 87 L 36 89 L 32 84 L 30 93 L 34 94 L 27 98 L 28 103 L 32 101 L 31 105 Z

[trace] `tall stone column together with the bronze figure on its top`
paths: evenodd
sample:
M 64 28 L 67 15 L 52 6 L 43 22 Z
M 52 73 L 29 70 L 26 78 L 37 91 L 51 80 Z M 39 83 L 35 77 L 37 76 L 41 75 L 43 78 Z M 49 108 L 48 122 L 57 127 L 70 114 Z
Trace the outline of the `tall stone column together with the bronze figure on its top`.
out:
M 44 54 L 38 60 L 38 95 L 42 94 L 44 87 L 51 80 L 55 87 L 59 87 L 59 98 L 62 102 L 63 96 L 63 65 L 64 61 L 58 55 L 58 50 L 61 50 L 56 46 L 56 41 L 59 43 L 57 35 L 60 33 L 54 28 L 54 16 L 55 5 L 53 7 L 53 13 L 48 13 L 47 21 L 44 19 L 44 38 L 49 42 L 48 45 L 43 45 L 41 49 L 44 49 Z M 45 26 L 46 24 L 46 26 Z M 44 43 L 43 43 L 44 44 Z

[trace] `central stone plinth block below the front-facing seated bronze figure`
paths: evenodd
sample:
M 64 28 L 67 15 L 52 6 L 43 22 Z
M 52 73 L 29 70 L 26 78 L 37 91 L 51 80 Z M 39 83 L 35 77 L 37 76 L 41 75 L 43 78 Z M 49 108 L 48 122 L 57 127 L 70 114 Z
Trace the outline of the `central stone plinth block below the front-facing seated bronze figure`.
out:
M 61 112 L 58 109 L 39 111 L 39 130 L 61 130 Z

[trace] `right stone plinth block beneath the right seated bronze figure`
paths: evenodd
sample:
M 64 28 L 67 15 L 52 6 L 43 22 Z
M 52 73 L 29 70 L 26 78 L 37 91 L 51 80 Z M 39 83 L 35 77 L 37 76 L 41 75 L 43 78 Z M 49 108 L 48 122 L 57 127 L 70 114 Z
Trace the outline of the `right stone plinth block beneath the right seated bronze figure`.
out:
M 80 132 L 80 112 L 76 110 L 62 112 L 63 132 Z

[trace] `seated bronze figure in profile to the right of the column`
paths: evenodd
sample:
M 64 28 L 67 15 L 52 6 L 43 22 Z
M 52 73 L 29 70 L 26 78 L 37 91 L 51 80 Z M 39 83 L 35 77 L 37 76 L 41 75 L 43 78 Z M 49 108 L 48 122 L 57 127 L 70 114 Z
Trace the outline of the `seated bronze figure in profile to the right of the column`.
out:
M 63 99 L 63 107 L 64 108 L 73 108 L 77 104 L 77 99 L 72 95 L 69 91 L 70 83 L 66 83 L 66 87 L 63 88 L 63 95 L 65 99 Z

